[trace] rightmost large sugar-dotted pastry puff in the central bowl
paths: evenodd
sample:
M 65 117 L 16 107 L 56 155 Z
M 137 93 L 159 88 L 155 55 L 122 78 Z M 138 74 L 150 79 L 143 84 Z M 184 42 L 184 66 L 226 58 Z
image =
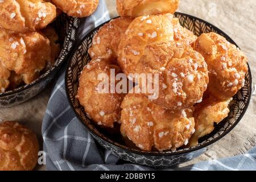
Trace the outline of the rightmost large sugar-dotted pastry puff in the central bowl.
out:
M 228 100 L 244 86 L 247 58 L 234 44 L 211 32 L 199 36 L 195 49 L 204 56 L 208 65 L 207 92 L 220 100 Z

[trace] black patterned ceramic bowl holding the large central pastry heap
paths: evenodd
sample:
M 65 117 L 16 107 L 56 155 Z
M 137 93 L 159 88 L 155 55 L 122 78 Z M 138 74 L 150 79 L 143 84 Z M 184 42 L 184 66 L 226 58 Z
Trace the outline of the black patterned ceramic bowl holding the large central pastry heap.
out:
M 205 22 L 204 20 L 187 14 L 176 13 L 175 15 L 177 18 L 179 18 L 180 24 L 182 26 L 193 31 L 197 36 L 201 35 L 202 33 L 217 32 L 229 40 L 230 43 L 236 44 L 232 39 L 229 38 L 228 35 L 226 35 L 217 27 L 214 27 L 212 24 Z M 85 36 L 79 46 L 76 47 L 76 51 L 73 53 L 72 59 L 69 61 L 67 67 L 65 84 L 69 102 L 79 121 L 93 135 L 97 142 L 101 144 L 101 146 L 107 150 L 112 151 L 114 155 L 128 162 L 145 166 L 156 168 L 174 166 L 176 164 L 192 160 L 203 154 L 213 143 L 217 142 L 217 140 L 228 134 L 242 119 L 249 105 L 251 96 L 250 68 L 246 75 L 245 86 L 236 94 L 236 96 L 234 96 L 234 102 L 230 107 L 229 116 L 225 118 L 224 121 L 222 121 L 219 125 L 217 125 L 211 134 L 201 138 L 200 144 L 197 146 L 166 152 L 148 152 L 124 146 L 124 143 L 122 140 L 120 140 L 121 136 L 108 134 L 104 130 L 93 125 L 93 122 L 90 121 L 88 117 L 86 117 L 84 107 L 82 107 L 79 104 L 79 101 L 75 98 L 77 94 L 77 88 L 79 86 L 80 72 L 90 61 L 88 48 L 92 44 L 93 36 L 101 26 L 95 28 L 92 32 Z

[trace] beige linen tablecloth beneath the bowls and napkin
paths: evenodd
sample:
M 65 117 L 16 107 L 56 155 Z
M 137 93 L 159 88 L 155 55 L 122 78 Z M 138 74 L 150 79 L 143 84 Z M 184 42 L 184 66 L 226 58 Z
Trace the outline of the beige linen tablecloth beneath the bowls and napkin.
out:
M 110 16 L 117 16 L 115 0 L 106 0 Z M 256 75 L 256 1 L 255 0 L 180 0 L 179 12 L 191 14 L 214 24 L 228 34 L 246 53 L 253 77 Z M 41 126 L 51 86 L 35 98 L 7 109 L 0 109 L 0 119 L 16 120 L 36 132 L 42 144 Z M 241 122 L 226 137 L 219 140 L 210 151 L 181 164 L 193 164 L 201 160 L 223 158 L 243 154 L 256 143 L 256 96 Z M 39 166 L 37 169 L 44 169 Z

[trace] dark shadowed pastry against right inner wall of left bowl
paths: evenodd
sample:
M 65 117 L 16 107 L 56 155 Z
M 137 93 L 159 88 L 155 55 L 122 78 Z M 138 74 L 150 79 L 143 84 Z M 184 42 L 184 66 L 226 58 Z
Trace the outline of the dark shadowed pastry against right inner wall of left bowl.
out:
M 59 35 L 52 26 L 47 26 L 42 32 L 49 39 L 51 46 L 51 64 L 54 64 L 57 57 L 60 55 Z

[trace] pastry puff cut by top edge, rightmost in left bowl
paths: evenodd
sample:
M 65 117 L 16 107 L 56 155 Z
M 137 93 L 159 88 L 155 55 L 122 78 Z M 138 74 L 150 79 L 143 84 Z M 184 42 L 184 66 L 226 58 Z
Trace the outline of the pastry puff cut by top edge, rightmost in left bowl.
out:
M 98 7 L 99 0 L 52 0 L 61 11 L 78 18 L 90 16 Z

